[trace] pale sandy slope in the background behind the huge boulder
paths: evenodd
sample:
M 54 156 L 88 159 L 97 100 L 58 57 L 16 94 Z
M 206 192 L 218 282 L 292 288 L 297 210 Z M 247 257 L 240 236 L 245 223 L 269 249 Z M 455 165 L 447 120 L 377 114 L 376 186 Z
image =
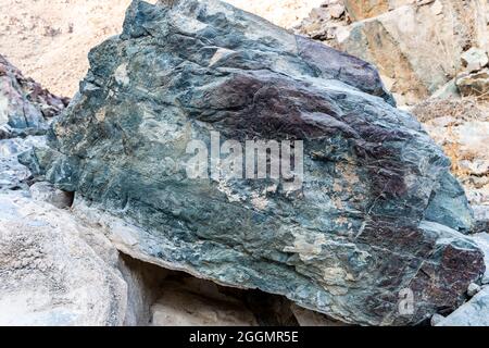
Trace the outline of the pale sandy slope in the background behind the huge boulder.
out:
M 323 0 L 228 2 L 291 27 Z M 87 72 L 88 51 L 121 32 L 129 3 L 130 0 L 0 0 L 0 53 L 50 91 L 71 97 Z

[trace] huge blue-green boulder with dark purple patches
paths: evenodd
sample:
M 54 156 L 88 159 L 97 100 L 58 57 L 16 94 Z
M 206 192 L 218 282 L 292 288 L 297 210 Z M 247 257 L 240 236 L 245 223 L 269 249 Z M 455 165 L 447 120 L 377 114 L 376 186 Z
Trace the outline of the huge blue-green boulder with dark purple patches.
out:
M 455 231 L 472 216 L 450 162 L 372 65 L 195 0 L 135 1 L 90 62 L 51 149 L 22 159 L 111 213 L 131 257 L 374 325 L 454 309 L 484 272 Z M 188 178 L 186 146 L 210 130 L 304 140 L 302 188 Z M 406 288 L 416 304 L 401 315 Z

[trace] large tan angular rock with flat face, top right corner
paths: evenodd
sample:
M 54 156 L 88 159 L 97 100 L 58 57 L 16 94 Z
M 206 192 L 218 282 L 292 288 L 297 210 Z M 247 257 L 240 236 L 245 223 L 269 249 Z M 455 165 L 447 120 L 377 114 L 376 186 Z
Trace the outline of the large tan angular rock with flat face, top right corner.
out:
M 304 20 L 299 32 L 378 66 L 399 104 L 435 94 L 463 70 L 461 54 L 488 50 L 484 0 L 344 0 L 354 22 Z M 310 28 L 314 28 L 312 32 Z M 327 29 L 333 34 L 317 37 Z

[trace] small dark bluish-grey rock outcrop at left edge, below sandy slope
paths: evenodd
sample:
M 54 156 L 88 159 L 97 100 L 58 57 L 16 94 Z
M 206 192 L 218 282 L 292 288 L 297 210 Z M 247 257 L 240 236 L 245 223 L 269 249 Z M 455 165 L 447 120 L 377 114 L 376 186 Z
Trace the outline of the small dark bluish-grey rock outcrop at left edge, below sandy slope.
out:
M 47 120 L 59 114 L 67 101 L 24 77 L 0 55 L 0 139 L 45 133 Z

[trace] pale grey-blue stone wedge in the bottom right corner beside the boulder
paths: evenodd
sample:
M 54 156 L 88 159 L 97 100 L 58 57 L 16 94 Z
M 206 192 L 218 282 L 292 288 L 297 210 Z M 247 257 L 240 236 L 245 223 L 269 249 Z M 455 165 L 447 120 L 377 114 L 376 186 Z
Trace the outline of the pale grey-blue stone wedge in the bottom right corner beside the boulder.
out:
M 437 326 L 489 326 L 489 286 L 439 322 Z

